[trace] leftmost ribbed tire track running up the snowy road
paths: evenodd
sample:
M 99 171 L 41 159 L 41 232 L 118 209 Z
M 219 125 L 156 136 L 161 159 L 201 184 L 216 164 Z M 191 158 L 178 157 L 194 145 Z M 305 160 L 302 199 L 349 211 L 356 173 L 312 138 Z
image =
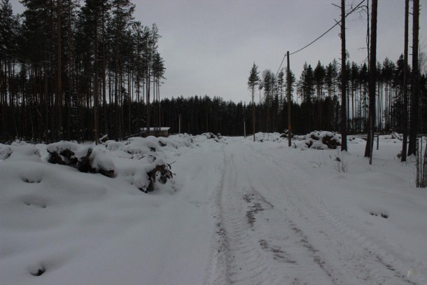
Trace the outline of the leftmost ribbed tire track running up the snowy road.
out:
M 246 223 L 233 155 L 225 149 L 223 178 L 215 195 L 217 237 L 209 284 L 269 284 L 262 249 Z

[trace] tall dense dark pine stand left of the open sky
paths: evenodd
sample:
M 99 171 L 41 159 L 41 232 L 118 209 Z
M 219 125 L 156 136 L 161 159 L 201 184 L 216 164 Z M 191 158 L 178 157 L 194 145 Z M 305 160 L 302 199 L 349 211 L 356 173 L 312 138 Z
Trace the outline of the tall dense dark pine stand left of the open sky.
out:
M 20 2 L 22 15 L 0 4 L 2 141 L 123 139 L 143 112 L 151 124 L 165 73 L 160 34 L 134 20 L 130 0 Z

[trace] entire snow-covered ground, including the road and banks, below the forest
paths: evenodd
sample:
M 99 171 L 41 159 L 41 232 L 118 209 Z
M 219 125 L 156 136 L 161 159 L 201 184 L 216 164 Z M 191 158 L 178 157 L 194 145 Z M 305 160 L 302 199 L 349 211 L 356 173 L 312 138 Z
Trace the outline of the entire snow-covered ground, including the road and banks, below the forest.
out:
M 208 137 L 72 144 L 113 177 L 48 163 L 64 143 L 0 144 L 0 284 L 427 284 L 427 191 L 398 139 L 369 165 L 361 139 Z M 174 177 L 142 192 L 159 163 Z

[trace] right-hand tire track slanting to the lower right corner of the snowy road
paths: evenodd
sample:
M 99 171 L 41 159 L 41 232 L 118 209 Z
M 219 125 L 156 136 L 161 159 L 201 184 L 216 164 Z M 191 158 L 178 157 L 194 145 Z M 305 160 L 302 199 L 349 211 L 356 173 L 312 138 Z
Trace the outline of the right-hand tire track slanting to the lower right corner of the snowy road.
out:
M 267 153 L 256 153 L 256 156 L 272 165 L 277 177 L 289 176 L 279 170 L 283 165 L 276 161 L 277 158 Z M 402 268 L 398 260 L 361 232 L 349 228 L 338 216 L 332 214 L 321 200 L 308 193 L 307 186 L 302 181 L 290 178 L 287 182 L 284 185 L 288 187 L 283 188 L 286 190 L 290 213 L 294 216 L 297 214 L 295 218 L 298 221 L 305 221 L 304 229 L 308 229 L 311 235 L 316 232 L 316 242 L 323 242 L 327 245 L 326 249 L 333 249 L 328 252 L 328 258 L 334 258 L 334 264 L 341 264 L 341 268 L 330 267 L 331 274 L 341 277 L 353 275 L 353 280 L 346 281 L 346 284 L 416 284 L 407 279 L 405 274 L 400 272 L 402 270 L 396 269 Z

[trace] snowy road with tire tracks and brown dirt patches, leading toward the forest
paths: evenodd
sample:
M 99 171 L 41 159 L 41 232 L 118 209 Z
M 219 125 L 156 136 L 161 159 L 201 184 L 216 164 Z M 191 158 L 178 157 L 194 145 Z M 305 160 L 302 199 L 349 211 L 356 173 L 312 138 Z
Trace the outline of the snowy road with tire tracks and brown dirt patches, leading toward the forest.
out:
M 214 180 L 207 185 L 216 225 L 205 284 L 414 284 L 311 195 L 297 161 L 232 141 L 204 154 L 193 167 Z

